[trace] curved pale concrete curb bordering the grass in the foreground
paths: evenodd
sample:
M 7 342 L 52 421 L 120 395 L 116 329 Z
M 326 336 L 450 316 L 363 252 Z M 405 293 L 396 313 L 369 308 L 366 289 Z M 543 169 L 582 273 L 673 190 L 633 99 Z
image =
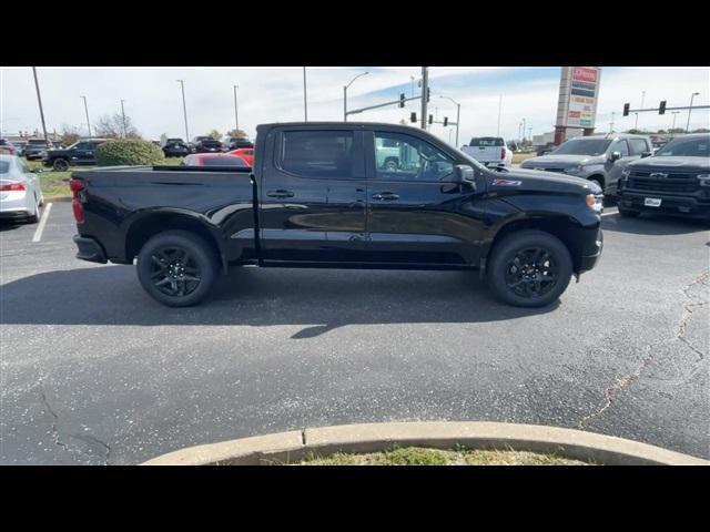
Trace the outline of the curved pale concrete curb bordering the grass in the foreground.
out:
M 342 424 L 191 447 L 143 466 L 266 466 L 310 453 L 375 452 L 394 446 L 513 449 L 606 466 L 710 466 L 710 461 L 622 438 L 574 429 L 478 421 Z

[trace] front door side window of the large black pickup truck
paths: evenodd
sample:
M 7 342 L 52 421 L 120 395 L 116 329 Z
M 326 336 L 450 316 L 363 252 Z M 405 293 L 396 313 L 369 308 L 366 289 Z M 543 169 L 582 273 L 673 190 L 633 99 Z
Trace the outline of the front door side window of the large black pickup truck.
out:
M 416 136 L 375 132 L 375 175 L 379 180 L 437 182 L 454 171 L 454 160 Z

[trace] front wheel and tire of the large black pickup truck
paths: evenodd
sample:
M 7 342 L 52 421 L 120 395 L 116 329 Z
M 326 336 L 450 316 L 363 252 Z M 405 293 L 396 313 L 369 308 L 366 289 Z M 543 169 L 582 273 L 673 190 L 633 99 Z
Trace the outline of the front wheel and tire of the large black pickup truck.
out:
M 569 285 L 572 259 L 556 236 L 526 229 L 497 243 L 486 269 L 488 286 L 499 300 L 516 307 L 544 307 Z

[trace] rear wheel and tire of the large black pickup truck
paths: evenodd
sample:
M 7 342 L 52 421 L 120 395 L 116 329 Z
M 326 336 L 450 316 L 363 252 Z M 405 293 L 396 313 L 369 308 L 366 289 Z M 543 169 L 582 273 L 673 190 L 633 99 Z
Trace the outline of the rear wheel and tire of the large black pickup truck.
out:
M 143 245 L 136 269 L 153 299 L 169 307 L 189 307 L 210 293 L 217 276 L 217 257 L 194 233 L 169 231 Z

